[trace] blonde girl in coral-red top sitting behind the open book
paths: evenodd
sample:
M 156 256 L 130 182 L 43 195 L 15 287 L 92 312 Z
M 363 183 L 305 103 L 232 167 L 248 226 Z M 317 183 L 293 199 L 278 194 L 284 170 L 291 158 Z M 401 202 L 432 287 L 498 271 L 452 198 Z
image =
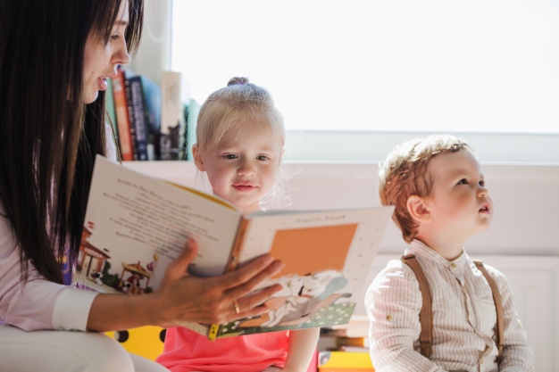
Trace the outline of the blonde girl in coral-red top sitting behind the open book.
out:
M 283 118 L 271 95 L 246 78 L 230 79 L 202 105 L 196 140 L 196 167 L 206 173 L 213 194 L 245 214 L 261 211 L 263 198 L 273 194 L 285 144 Z M 157 361 L 173 372 L 305 372 L 318 336 L 319 328 L 310 328 L 211 342 L 171 328 Z

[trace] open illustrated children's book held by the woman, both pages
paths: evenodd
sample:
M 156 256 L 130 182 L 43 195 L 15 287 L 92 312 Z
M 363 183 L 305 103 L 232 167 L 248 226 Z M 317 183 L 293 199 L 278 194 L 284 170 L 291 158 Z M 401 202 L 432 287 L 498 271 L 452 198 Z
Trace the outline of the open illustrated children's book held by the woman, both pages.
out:
M 229 202 L 97 156 L 74 281 L 101 292 L 148 293 L 188 237 L 189 271 L 215 276 L 270 252 L 284 269 L 262 286 L 283 290 L 269 313 L 226 325 L 187 324 L 210 339 L 346 324 L 392 207 L 266 211 L 243 216 Z

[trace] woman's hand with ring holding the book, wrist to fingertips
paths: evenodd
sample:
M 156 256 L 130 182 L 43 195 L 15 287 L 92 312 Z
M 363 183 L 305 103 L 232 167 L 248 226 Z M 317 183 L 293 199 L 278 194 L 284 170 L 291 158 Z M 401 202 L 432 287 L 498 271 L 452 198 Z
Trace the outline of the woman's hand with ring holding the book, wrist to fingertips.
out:
M 238 318 L 260 315 L 262 305 L 281 285 L 272 285 L 248 294 L 264 279 L 277 273 L 283 264 L 263 255 L 235 271 L 219 277 L 193 277 L 188 265 L 196 258 L 197 244 L 190 239 L 184 251 L 171 262 L 162 284 L 154 292 L 155 306 L 162 315 L 160 327 L 176 322 L 225 323 Z

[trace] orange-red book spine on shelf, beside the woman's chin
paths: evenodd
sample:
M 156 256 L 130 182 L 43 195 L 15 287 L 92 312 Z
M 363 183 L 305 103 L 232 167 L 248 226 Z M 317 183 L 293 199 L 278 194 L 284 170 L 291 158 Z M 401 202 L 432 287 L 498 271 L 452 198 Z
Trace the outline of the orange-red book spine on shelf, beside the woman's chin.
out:
M 114 112 L 119 132 L 119 144 L 123 161 L 133 161 L 132 140 L 130 138 L 130 123 L 124 91 L 124 70 L 120 69 L 113 79 Z

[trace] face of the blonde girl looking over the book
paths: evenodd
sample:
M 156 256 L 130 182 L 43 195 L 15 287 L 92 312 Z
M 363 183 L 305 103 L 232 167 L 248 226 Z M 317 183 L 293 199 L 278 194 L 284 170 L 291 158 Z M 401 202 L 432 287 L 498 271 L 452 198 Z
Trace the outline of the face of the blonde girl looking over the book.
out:
M 260 211 L 260 199 L 271 192 L 280 169 L 283 149 L 275 142 L 270 132 L 259 128 L 240 136 L 229 131 L 216 148 L 204 154 L 193 147 L 196 167 L 206 172 L 213 194 L 245 214 Z

